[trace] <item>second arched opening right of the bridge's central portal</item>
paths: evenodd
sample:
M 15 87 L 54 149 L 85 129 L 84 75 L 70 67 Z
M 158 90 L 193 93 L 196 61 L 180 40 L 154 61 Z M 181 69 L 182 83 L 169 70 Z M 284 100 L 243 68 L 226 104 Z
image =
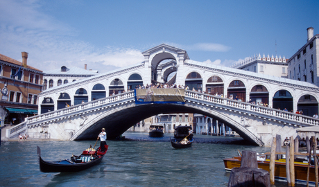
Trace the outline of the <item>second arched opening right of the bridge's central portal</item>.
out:
M 206 94 L 212 94 L 212 95 L 224 94 L 223 80 L 216 75 L 213 75 L 212 77 L 210 77 L 206 83 Z

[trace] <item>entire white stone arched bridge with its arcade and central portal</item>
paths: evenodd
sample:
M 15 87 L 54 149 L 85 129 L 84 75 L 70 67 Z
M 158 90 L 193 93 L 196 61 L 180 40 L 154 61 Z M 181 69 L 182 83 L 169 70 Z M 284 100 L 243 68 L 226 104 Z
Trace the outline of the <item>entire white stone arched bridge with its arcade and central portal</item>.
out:
M 41 114 L 26 118 L 6 136 L 45 127 L 51 139 L 96 139 L 105 127 L 112 139 L 156 114 L 196 113 L 224 123 L 247 141 L 270 146 L 275 134 L 297 136 L 296 128 L 318 125 L 312 115 L 318 113 L 319 88 L 313 84 L 196 62 L 166 44 L 142 54 L 140 64 L 46 89 L 39 95 Z M 166 82 L 189 87 L 185 103 L 135 103 L 132 89 Z

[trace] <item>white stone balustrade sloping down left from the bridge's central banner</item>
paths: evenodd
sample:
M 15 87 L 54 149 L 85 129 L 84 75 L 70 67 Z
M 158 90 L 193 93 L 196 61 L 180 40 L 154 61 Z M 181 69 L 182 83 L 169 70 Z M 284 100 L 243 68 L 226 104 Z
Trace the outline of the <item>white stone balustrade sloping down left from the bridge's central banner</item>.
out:
M 17 136 L 17 134 L 24 132 L 27 129 L 27 126 L 33 123 L 38 123 L 40 121 L 47 121 L 51 118 L 58 118 L 59 116 L 65 115 L 65 114 L 73 114 L 76 112 L 83 111 L 85 109 L 92 109 L 94 107 L 98 107 L 101 105 L 107 105 L 108 103 L 114 103 L 119 100 L 123 100 L 126 98 L 134 98 L 134 91 L 128 91 L 123 94 L 118 94 L 115 96 L 110 96 L 107 98 L 101 98 L 98 100 L 92 100 L 87 103 L 83 103 L 80 105 L 75 105 L 63 109 L 58 109 L 52 112 L 47 112 L 45 114 L 40 114 L 37 116 L 32 116 L 26 118 L 26 121 L 23 123 L 20 123 L 18 125 L 15 125 L 15 127 L 12 127 L 10 130 L 6 131 L 6 137 L 12 138 L 13 136 Z

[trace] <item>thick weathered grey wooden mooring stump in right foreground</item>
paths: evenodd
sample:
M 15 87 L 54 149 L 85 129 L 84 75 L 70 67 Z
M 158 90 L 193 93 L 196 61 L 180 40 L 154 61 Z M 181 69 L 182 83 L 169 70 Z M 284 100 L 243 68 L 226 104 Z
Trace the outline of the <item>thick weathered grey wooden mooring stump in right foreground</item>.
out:
M 241 167 L 232 168 L 228 187 L 270 187 L 269 172 L 258 168 L 257 153 L 244 150 Z

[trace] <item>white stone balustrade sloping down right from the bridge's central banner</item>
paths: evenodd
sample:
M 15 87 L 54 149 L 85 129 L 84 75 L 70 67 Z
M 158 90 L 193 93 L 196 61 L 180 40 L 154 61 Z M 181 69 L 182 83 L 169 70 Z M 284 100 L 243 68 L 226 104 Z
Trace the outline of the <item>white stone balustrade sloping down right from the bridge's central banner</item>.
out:
M 319 125 L 319 119 L 313 118 L 311 116 L 304 116 L 301 114 L 295 114 L 291 112 L 282 111 L 279 109 L 273 109 L 270 107 L 259 106 L 251 103 L 241 102 L 239 100 L 232 100 L 228 98 L 222 98 L 219 96 L 202 94 L 196 91 L 185 90 L 185 97 L 195 98 L 198 100 L 207 101 L 209 103 L 216 103 L 218 105 L 225 105 L 229 107 L 235 107 L 237 109 L 243 109 L 251 112 L 256 112 L 259 114 L 265 114 L 269 117 L 282 118 L 288 121 L 293 121 L 298 125 L 307 124 L 307 125 Z

